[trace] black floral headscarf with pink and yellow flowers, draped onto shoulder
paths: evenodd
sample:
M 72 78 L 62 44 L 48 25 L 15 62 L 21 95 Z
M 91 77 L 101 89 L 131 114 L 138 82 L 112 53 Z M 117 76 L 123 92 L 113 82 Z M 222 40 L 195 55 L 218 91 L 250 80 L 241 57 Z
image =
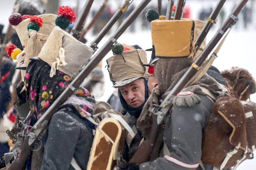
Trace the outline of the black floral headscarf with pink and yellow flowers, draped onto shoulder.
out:
M 72 81 L 70 76 L 60 71 L 50 78 L 50 70 L 51 67 L 44 61 L 32 60 L 24 78 L 27 102 L 36 120 L 44 114 Z M 75 103 L 71 102 L 72 99 L 76 100 L 76 103 L 79 100 L 80 104 L 75 106 L 76 110 L 81 116 L 90 116 L 95 105 L 94 97 L 85 88 L 77 88 L 74 95 L 79 98 L 75 99 L 74 96 L 71 96 L 69 103 Z M 86 96 L 87 98 L 84 100 L 83 97 Z

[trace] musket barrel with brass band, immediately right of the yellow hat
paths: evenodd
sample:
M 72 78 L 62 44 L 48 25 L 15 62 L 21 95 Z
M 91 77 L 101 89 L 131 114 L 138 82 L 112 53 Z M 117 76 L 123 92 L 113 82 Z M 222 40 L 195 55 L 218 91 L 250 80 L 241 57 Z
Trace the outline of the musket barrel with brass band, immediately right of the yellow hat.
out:
M 201 46 L 202 42 L 204 41 L 206 35 L 208 34 L 209 30 L 211 29 L 213 24 L 217 22 L 217 16 L 220 13 L 221 8 L 223 7 L 226 0 L 219 0 L 215 8 L 213 9 L 211 15 L 207 19 L 208 22 L 204 25 L 202 31 L 198 35 L 196 42 L 195 42 L 195 54 L 198 51 L 199 47 Z

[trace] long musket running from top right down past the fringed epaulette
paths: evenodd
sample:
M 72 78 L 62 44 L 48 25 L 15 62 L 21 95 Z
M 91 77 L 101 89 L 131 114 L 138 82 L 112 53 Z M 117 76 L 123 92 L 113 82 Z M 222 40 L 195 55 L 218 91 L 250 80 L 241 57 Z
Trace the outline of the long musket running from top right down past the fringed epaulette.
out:
M 225 32 L 237 22 L 238 13 L 241 11 L 246 2 L 248 2 L 248 0 L 242 0 L 236 5 L 226 21 L 223 22 L 221 27 L 217 30 L 216 34 L 212 37 L 211 41 L 206 45 L 202 53 L 198 56 L 195 62 L 190 66 L 190 68 L 185 72 L 185 74 L 168 93 L 163 102 L 159 106 L 149 108 L 149 111 L 152 112 L 150 138 L 144 140 L 144 142 L 140 144 L 138 150 L 133 155 L 133 158 L 130 160 L 131 163 L 141 164 L 149 160 L 151 153 L 147 152 L 148 148 L 146 147 L 149 146 L 150 150 L 153 150 L 152 146 L 154 146 L 154 142 L 156 140 L 156 133 L 158 132 L 159 125 L 162 123 L 165 116 L 170 112 L 170 109 L 172 107 L 172 103 L 169 100 L 170 97 L 176 95 L 188 85 L 188 82 L 190 82 L 191 78 L 197 73 L 198 68 L 202 66 L 205 59 L 212 52 L 213 48 L 217 45 L 217 43 L 221 40 Z M 142 158 L 148 159 L 143 160 Z

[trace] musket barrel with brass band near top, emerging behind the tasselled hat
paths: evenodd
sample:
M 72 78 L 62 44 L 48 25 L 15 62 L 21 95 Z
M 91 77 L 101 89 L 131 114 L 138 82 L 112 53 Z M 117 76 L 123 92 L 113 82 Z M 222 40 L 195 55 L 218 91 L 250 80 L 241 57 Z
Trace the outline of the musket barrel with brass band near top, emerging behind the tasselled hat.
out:
M 102 30 L 98 33 L 97 37 L 91 42 L 89 47 L 93 48 L 94 51 L 97 50 L 97 44 L 102 40 L 102 38 L 107 34 L 110 28 L 114 25 L 114 23 L 118 20 L 118 18 L 128 9 L 129 5 L 133 2 L 133 0 L 126 0 L 121 7 L 118 8 L 116 13 L 112 16 L 112 18 L 107 22 L 107 24 L 102 28 Z

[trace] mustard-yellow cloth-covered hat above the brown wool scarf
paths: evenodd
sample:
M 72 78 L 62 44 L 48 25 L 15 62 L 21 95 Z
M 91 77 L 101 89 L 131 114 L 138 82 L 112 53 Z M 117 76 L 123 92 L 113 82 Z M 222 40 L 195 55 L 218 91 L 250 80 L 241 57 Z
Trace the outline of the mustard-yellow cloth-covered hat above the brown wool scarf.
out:
M 195 29 L 192 30 L 193 22 Z M 186 18 L 165 20 L 165 16 L 160 16 L 159 19 L 150 23 L 152 44 L 155 47 L 155 55 L 159 57 L 190 57 L 193 55 L 194 42 L 204 26 L 203 21 Z M 192 36 L 194 36 L 193 40 Z M 175 46 L 171 44 L 175 44 Z

